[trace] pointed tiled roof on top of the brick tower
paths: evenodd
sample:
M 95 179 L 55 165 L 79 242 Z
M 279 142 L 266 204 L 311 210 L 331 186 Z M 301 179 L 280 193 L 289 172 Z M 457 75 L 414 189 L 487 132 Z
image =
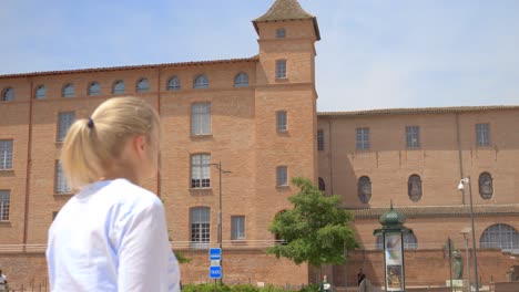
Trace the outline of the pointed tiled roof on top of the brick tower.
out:
M 257 22 L 281 21 L 281 20 L 297 20 L 312 19 L 314 22 L 315 35 L 320 40 L 319 27 L 317 18 L 306 12 L 297 2 L 297 0 L 276 0 L 268 11 L 262 17 L 253 20 L 256 32 L 258 31 Z

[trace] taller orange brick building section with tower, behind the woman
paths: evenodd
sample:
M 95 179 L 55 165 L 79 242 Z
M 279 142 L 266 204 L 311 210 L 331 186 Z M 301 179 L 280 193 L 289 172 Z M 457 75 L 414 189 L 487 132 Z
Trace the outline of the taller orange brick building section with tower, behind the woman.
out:
M 307 282 L 306 267 L 265 248 L 297 191 L 291 177 L 317 178 L 319 31 L 295 0 L 276 1 L 253 27 L 258 54 L 247 59 L 0 76 L 0 265 L 11 285 L 33 280 L 23 274 L 44 281 L 47 230 L 73 192 L 58 161 L 68 127 L 124 95 L 161 115 L 161 169 L 144 186 L 164 200 L 174 249 L 193 259 L 183 282 L 208 281 L 207 248 L 220 244 L 226 282 Z M 38 263 L 24 264 L 28 252 Z

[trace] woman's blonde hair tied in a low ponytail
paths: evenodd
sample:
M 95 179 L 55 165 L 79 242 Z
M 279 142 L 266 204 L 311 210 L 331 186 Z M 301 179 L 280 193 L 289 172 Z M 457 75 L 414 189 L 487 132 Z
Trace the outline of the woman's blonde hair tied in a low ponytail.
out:
M 151 104 L 138 97 L 103 102 L 90 118 L 75 121 L 61 150 L 61 166 L 71 187 L 96 181 L 119 158 L 129 137 L 145 135 L 159 147 L 152 133 L 160 133 L 160 117 Z

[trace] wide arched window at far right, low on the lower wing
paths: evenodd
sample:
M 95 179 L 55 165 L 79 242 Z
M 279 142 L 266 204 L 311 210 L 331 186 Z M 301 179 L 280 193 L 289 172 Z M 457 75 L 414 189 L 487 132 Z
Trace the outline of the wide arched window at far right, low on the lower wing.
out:
M 492 225 L 479 240 L 481 249 L 519 249 L 519 233 L 509 225 Z

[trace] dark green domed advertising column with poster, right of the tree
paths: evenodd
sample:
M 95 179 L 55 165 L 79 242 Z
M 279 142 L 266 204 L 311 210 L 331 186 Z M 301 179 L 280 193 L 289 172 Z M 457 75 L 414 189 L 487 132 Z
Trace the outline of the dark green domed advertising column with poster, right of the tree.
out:
M 383 213 L 380 229 L 373 231 L 374 236 L 381 236 L 384 243 L 385 291 L 406 291 L 406 269 L 404 264 L 404 234 L 413 233 L 404 226 L 405 216 L 393 209 Z

